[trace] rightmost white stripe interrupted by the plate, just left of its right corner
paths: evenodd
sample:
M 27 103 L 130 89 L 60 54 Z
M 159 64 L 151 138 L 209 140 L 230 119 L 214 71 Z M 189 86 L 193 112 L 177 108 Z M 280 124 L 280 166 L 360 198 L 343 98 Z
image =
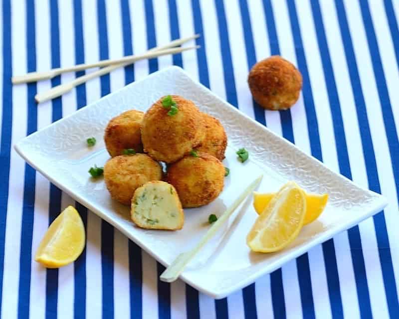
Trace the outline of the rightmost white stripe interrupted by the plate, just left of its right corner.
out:
M 344 55 L 344 48 L 342 46 L 339 27 L 337 24 L 337 16 L 333 4 L 331 2 L 326 2 L 325 4 L 331 4 L 326 8 L 323 7 L 324 16 L 329 16 L 329 18 L 324 19 L 324 21 L 326 33 L 328 34 L 327 40 L 330 44 L 329 48 L 331 52 L 332 64 L 336 70 L 336 83 L 340 98 L 344 127 L 345 131 L 347 132 L 346 137 L 348 150 L 350 150 L 349 160 L 351 162 L 352 176 L 356 183 L 368 188 L 369 185 L 364 158 L 359 156 L 363 153 L 362 142 L 358 127 L 355 101 L 351 90 L 351 83 Z M 330 19 L 332 14 L 335 19 Z M 368 284 L 370 287 L 369 292 L 372 310 L 374 315 L 386 315 L 388 317 L 387 299 L 382 278 L 373 219 L 369 218 L 360 223 L 359 229 L 362 235 L 362 245 L 364 248 L 366 248 L 363 249 L 363 254 L 365 258 Z M 378 310 L 376 307 L 378 307 Z

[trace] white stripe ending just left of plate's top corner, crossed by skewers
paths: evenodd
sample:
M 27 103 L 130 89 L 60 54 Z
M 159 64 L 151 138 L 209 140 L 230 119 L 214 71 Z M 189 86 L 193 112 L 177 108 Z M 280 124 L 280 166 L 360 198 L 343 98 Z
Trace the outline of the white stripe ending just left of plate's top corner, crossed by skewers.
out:
M 163 45 L 171 41 L 171 31 L 169 22 L 169 7 L 166 0 L 153 1 L 155 38 L 158 45 Z M 172 21 L 176 23 L 176 21 Z M 172 55 L 164 55 L 158 58 L 158 68 L 161 70 L 173 64 Z

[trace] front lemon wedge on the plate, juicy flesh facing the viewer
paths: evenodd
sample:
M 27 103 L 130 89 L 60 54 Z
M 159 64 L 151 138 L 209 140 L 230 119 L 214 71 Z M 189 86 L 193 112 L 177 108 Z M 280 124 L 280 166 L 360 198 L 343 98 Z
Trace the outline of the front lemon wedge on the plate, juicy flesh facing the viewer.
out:
M 283 249 L 298 236 L 305 214 L 305 192 L 296 183 L 288 182 L 256 219 L 247 235 L 247 245 L 262 253 Z

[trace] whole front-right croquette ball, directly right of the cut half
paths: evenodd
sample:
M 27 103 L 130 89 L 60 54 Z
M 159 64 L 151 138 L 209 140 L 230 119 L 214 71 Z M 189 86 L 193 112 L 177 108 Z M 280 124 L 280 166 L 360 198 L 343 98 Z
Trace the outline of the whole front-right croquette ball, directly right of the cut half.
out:
M 175 186 L 183 207 L 199 207 L 223 190 L 224 166 L 215 157 L 198 152 L 168 166 L 167 181 Z

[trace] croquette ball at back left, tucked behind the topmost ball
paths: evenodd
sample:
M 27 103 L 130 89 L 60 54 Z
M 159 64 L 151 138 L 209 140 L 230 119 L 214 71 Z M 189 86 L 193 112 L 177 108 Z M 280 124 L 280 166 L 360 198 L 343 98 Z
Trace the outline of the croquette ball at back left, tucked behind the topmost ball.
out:
M 105 147 L 111 157 L 123 154 L 125 149 L 134 149 L 142 152 L 141 122 L 144 112 L 130 110 L 114 117 L 105 129 Z

